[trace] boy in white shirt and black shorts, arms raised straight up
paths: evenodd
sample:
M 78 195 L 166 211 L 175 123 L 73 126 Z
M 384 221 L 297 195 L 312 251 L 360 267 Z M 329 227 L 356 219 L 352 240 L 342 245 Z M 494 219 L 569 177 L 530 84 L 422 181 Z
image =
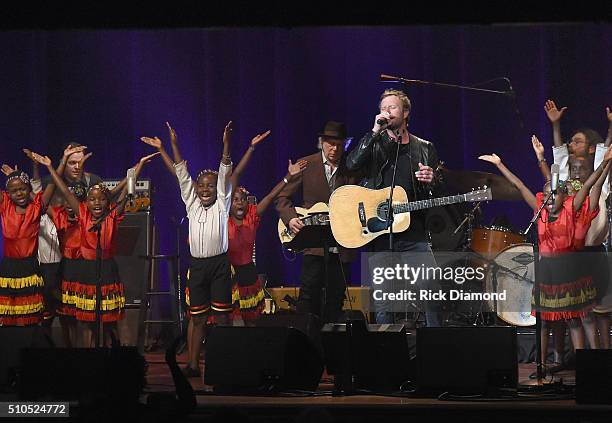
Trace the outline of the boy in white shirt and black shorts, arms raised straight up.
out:
M 214 314 L 217 323 L 228 323 L 232 310 L 230 263 L 227 255 L 227 225 L 231 207 L 232 161 L 230 138 L 232 122 L 223 132 L 223 154 L 219 171 L 203 170 L 195 182 L 181 157 L 176 133 L 168 125 L 174 155 L 174 174 L 178 179 L 181 198 L 189 219 L 189 250 L 191 263 L 185 299 L 188 307 L 188 363 L 183 369 L 187 377 L 200 376 L 200 351 L 206 335 L 208 316 Z M 166 163 L 167 154 L 159 138 L 141 138 L 156 147 Z M 168 164 L 166 163 L 166 166 Z M 172 170 L 172 168 L 170 168 Z

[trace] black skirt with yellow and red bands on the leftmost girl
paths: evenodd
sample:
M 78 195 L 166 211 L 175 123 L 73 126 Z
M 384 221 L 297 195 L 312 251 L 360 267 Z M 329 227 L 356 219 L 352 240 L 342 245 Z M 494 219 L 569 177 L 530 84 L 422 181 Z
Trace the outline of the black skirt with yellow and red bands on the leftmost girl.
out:
M 38 259 L 4 257 L 0 262 L 0 326 L 36 325 L 44 310 Z

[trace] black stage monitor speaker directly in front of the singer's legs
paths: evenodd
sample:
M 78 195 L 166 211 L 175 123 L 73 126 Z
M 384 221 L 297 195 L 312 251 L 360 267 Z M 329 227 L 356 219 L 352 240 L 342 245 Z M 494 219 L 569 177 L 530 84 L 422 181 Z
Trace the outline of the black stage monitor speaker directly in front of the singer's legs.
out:
M 414 380 L 404 325 L 357 320 L 349 337 L 346 323 L 328 323 L 321 338 L 327 373 L 354 376 L 354 388 L 392 392 Z

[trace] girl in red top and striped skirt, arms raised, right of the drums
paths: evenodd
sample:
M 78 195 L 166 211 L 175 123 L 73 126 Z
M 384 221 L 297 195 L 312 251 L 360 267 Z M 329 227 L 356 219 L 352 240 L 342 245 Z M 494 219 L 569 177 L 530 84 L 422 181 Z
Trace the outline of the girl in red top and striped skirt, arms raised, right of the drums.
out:
M 534 213 L 551 191 L 550 182 L 546 182 L 543 192 L 534 195 L 495 154 L 480 156 L 479 159 L 496 165 L 520 191 Z M 545 362 L 548 352 L 548 332 L 560 320 L 567 322 L 574 347 L 584 348 L 581 319 L 594 307 L 597 289 L 590 269 L 580 265 L 580 255 L 575 252 L 584 248 L 588 226 L 599 211 L 598 199 L 610 170 L 610 159 L 612 149 L 608 149 L 602 164 L 575 195 L 568 195 L 567 187 L 561 181 L 554 201 L 549 200 L 538 219 L 542 362 Z M 561 354 L 562 351 L 556 351 L 555 358 Z

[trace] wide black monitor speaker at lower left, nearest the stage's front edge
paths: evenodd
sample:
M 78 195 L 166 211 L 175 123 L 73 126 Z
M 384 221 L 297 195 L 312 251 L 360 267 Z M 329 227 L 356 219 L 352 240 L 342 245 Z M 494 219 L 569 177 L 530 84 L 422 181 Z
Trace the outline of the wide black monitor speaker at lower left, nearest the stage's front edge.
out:
M 30 348 L 21 352 L 19 396 L 137 403 L 145 385 L 145 360 L 136 347 Z

